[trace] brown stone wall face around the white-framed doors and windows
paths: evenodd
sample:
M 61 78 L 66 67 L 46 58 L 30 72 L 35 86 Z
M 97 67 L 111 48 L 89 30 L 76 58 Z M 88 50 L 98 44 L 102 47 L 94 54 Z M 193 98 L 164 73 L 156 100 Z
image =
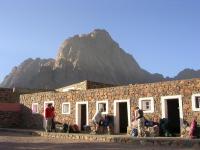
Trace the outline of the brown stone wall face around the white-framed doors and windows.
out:
M 70 91 L 66 93 L 59 92 L 41 92 L 34 94 L 25 94 L 20 96 L 20 102 L 24 105 L 23 122 L 26 127 L 42 128 L 42 115 L 44 111 L 44 101 L 54 101 L 56 110 L 56 120 L 59 122 L 75 123 L 76 102 L 88 101 L 89 124 L 96 112 L 96 101 L 108 100 L 109 114 L 114 113 L 114 100 L 130 100 L 131 113 L 135 106 L 138 106 L 139 98 L 153 97 L 154 113 L 145 114 L 146 118 L 159 121 L 161 118 L 161 96 L 181 95 L 183 102 L 183 119 L 191 122 L 193 116 L 198 117 L 200 122 L 200 112 L 192 111 L 191 96 L 200 93 L 200 79 L 179 80 L 158 82 L 149 84 L 135 84 L 128 86 L 119 86 L 102 89 L 91 89 L 86 91 Z M 70 102 L 71 111 L 69 115 L 61 114 L 63 102 Z M 39 114 L 31 113 L 32 103 L 39 104 Z M 28 112 L 28 113 L 27 113 Z

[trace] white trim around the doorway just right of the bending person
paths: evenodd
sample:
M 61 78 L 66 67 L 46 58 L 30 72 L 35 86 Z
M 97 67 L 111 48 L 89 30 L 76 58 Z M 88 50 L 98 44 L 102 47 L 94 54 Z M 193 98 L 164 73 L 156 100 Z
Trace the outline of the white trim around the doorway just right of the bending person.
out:
M 120 103 L 120 102 L 126 102 L 127 103 L 128 126 L 131 126 L 130 99 L 126 99 L 126 100 L 114 100 L 114 132 L 115 133 L 119 133 L 119 115 L 118 115 L 118 113 L 119 113 L 119 105 L 117 106 L 117 104 Z

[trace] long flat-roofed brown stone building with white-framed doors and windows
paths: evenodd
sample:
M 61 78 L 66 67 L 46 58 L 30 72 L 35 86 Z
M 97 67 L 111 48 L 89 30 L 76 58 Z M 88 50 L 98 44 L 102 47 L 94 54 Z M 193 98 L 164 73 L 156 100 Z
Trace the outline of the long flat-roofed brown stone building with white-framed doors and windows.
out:
M 200 79 L 98 89 L 61 89 L 21 95 L 23 126 L 43 128 L 43 113 L 48 103 L 55 107 L 56 121 L 75 123 L 80 128 L 85 124 L 92 125 L 93 115 L 99 105 L 103 105 L 103 113 L 114 116 L 115 133 L 126 132 L 135 106 L 142 108 L 148 119 L 158 122 L 160 118 L 170 119 L 177 133 L 182 131 L 184 121 L 190 123 L 194 116 L 200 121 Z

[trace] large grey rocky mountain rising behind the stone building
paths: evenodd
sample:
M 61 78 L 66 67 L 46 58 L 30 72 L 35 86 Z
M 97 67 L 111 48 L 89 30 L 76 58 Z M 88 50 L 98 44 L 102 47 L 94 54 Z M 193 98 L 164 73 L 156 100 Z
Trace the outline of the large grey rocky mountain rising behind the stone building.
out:
M 82 80 L 122 85 L 165 79 L 142 69 L 107 31 L 97 29 L 66 39 L 55 59 L 25 60 L 13 68 L 0 86 L 58 88 Z

